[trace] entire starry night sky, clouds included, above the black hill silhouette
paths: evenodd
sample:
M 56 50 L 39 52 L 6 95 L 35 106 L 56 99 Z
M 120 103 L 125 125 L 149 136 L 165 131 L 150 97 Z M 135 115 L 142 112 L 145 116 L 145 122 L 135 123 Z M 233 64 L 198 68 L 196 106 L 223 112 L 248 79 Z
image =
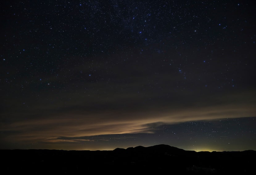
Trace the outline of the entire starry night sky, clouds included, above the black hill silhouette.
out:
M 0 6 L 0 149 L 256 150 L 254 1 Z

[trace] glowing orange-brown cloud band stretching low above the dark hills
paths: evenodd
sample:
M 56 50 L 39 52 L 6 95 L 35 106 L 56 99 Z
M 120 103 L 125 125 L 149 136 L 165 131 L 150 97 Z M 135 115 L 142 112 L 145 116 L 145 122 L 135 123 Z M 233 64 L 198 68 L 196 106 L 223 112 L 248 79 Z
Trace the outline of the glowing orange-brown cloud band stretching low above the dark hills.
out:
M 1 125 L 12 141 L 28 142 L 80 142 L 91 141 L 74 139 L 85 136 L 154 133 L 157 125 L 174 124 L 186 121 L 215 120 L 255 116 L 254 105 L 215 105 L 204 108 L 187 108 L 148 111 L 100 111 L 82 114 L 81 111 L 58 113 L 47 117 L 15 121 Z M 152 126 L 155 127 L 152 127 Z M 8 132 L 7 132 L 8 131 Z M 67 139 L 60 139 L 66 137 Z M 68 139 L 70 138 L 70 139 Z

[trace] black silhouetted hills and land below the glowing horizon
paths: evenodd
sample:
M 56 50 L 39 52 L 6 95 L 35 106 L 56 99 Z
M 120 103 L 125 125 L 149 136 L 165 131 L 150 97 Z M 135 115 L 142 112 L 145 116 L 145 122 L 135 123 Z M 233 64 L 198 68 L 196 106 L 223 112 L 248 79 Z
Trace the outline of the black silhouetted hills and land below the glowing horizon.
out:
M 113 151 L 0 150 L 5 174 L 255 174 L 256 151 L 195 152 L 169 145 Z

